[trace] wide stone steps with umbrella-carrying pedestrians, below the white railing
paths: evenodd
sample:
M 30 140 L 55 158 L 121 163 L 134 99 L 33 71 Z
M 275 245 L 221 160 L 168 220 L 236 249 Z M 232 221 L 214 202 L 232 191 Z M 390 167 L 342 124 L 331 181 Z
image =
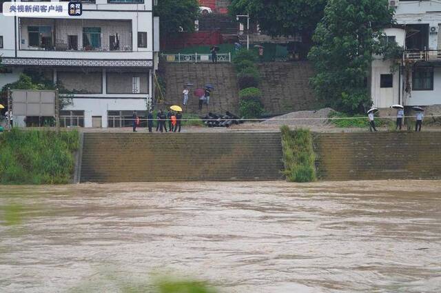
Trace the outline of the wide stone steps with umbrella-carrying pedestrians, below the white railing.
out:
M 225 111 L 238 112 L 238 87 L 236 72 L 230 63 L 165 63 L 161 64 L 161 75 L 167 83 L 166 103 L 182 105 L 183 86 L 192 83 L 189 100 L 184 112 L 207 114 L 208 112 Z M 212 83 L 214 91 L 209 100 L 209 105 L 203 105 L 203 110 L 198 110 L 198 97 L 193 92 L 196 88 L 203 88 L 205 84 Z

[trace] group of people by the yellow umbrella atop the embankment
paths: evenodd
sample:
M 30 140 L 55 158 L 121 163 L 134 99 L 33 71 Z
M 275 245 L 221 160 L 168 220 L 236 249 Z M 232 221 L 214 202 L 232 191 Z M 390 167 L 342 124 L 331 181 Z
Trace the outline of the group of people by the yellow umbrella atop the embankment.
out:
M 147 128 L 149 132 L 153 132 L 154 118 L 152 110 L 147 115 Z M 156 113 L 156 132 L 181 132 L 182 113 L 168 110 L 167 113 L 159 110 Z M 136 111 L 133 112 L 133 132 L 137 132 L 136 128 L 141 124 Z M 167 125 L 168 124 L 168 125 Z M 168 126 L 168 129 L 167 129 Z

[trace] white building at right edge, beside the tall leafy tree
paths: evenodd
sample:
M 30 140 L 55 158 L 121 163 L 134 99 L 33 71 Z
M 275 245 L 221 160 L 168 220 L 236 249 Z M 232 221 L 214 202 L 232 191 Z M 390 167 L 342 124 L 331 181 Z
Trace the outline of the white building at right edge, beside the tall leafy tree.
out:
M 390 0 L 396 7 L 394 28 L 384 33 L 404 54 L 396 70 L 376 58 L 371 68 L 371 98 L 378 108 L 441 105 L 441 1 Z

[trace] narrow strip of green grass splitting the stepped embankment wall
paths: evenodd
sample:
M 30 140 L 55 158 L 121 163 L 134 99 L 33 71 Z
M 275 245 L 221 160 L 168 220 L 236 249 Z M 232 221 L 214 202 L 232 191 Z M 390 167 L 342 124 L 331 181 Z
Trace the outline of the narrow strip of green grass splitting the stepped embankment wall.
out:
M 316 155 L 312 147 L 312 135 L 309 130 L 290 130 L 283 125 L 282 132 L 283 172 L 290 182 L 312 182 L 317 180 Z

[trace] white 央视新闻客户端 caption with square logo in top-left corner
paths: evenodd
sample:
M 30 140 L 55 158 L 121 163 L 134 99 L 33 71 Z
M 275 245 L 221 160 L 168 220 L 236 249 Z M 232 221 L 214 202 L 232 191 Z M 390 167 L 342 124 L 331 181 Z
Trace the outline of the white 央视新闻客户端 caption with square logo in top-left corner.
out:
M 7 17 L 79 17 L 83 5 L 71 2 L 4 2 L 3 15 Z

